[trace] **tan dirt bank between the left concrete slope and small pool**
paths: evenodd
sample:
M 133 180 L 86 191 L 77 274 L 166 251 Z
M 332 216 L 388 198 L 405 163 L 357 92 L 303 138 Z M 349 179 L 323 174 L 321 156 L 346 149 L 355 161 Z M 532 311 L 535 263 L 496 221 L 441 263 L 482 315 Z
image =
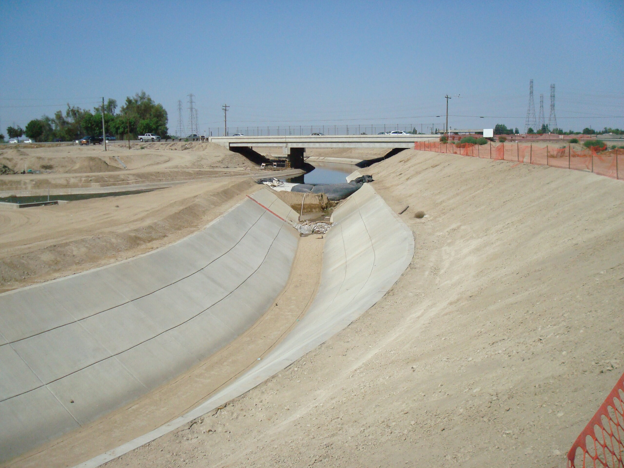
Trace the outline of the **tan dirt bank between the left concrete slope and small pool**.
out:
M 0 208 L 0 292 L 172 243 L 257 188 L 250 178 L 235 178 L 51 207 Z

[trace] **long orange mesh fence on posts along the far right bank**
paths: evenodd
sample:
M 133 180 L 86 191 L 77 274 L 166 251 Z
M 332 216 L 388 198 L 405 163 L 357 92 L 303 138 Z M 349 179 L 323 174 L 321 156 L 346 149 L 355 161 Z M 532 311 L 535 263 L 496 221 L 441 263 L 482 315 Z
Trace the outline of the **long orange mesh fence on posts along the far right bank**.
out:
M 542 166 L 585 170 L 605 177 L 622 179 L 624 149 L 596 151 L 595 149 L 573 149 L 572 145 L 527 144 L 519 142 L 454 144 L 452 142 L 415 142 L 414 149 L 436 153 L 459 154 L 486 159 L 517 161 Z M 620 177 L 622 172 L 622 177 Z

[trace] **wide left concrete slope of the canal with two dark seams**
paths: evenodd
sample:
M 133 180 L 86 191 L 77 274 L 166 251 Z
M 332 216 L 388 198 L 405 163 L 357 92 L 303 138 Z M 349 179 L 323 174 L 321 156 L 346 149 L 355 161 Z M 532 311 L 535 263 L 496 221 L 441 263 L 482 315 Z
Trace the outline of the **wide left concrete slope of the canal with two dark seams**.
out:
M 296 213 L 259 198 L 147 255 L 0 295 L 0 460 L 165 383 L 265 313 L 298 233 L 282 219 Z

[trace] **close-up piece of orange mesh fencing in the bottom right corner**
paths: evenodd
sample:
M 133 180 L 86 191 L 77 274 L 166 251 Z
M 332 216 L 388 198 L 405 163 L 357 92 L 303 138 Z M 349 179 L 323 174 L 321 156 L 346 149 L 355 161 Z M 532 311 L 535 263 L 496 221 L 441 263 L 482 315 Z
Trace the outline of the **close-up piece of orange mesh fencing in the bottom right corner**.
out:
M 568 468 L 624 467 L 624 374 L 568 452 Z

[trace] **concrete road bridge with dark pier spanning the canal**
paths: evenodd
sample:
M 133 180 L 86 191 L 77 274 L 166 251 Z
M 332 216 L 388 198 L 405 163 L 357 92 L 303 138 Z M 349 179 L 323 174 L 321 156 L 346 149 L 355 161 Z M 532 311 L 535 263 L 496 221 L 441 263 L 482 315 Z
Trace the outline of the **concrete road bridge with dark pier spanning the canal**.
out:
M 290 135 L 261 137 L 209 137 L 209 141 L 260 162 L 263 157 L 253 147 L 282 147 L 291 167 L 303 167 L 306 148 L 388 148 L 408 149 L 414 142 L 437 139 L 439 135 Z

